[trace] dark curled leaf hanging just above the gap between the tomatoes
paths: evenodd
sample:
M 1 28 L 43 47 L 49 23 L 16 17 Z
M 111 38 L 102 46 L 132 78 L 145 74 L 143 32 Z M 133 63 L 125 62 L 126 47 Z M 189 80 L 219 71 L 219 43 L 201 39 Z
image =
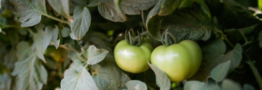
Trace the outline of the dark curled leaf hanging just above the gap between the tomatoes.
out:
M 149 34 L 158 41 L 161 41 L 161 31 L 160 31 L 160 19 L 159 15 L 155 15 L 155 8 L 153 8 L 147 16 L 146 28 Z

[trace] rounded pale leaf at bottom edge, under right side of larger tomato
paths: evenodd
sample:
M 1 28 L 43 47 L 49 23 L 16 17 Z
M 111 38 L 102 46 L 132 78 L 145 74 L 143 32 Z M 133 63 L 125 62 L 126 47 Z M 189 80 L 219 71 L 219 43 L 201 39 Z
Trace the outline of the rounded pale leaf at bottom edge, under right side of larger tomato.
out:
M 205 83 L 199 81 L 187 81 L 184 85 L 184 90 L 202 90 Z

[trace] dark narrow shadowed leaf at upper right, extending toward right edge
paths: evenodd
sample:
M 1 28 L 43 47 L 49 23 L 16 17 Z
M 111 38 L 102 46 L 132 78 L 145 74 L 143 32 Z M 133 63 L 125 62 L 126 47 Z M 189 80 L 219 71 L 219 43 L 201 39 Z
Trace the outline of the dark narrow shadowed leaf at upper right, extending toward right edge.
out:
M 228 37 L 233 42 L 238 42 L 239 40 L 242 40 L 243 38 L 247 41 L 246 36 L 247 34 L 251 33 L 255 30 L 255 27 L 257 27 L 259 24 L 254 24 L 250 27 L 245 27 L 241 29 L 225 29 L 224 32 L 228 34 Z

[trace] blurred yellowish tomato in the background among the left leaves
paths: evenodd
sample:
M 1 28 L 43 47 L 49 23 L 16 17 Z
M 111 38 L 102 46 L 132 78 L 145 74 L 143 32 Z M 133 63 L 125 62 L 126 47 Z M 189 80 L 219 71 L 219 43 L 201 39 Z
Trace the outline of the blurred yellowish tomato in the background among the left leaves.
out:
M 56 49 L 53 46 L 47 47 L 47 49 L 45 50 L 44 55 L 48 56 L 48 57 L 51 57 L 56 62 L 62 62 L 63 61 L 63 60 L 61 60 L 63 58 L 63 56 L 62 56 L 62 48 L 59 48 L 59 47 L 58 47 L 58 49 Z

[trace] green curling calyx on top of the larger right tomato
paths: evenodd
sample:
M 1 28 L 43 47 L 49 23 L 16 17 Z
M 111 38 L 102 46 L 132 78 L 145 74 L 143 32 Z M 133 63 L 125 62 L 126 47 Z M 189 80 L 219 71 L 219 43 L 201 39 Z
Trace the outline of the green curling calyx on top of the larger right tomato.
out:
M 162 34 L 161 42 L 164 46 L 168 47 L 170 45 L 179 43 L 179 40 L 175 35 L 169 33 L 167 28 L 164 34 Z

